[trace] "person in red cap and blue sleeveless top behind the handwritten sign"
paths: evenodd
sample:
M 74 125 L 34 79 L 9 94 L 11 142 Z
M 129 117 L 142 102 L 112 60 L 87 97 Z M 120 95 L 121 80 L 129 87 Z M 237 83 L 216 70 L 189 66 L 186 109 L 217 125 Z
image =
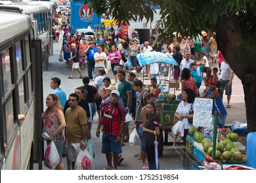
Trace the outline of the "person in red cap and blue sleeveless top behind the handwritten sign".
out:
M 216 89 L 217 79 L 212 77 L 209 79 L 208 83 L 208 90 L 200 98 L 213 99 L 212 114 L 217 111 L 217 125 L 219 127 L 224 127 L 227 113 L 226 109 L 224 108 L 221 95 L 219 95 L 219 92 Z

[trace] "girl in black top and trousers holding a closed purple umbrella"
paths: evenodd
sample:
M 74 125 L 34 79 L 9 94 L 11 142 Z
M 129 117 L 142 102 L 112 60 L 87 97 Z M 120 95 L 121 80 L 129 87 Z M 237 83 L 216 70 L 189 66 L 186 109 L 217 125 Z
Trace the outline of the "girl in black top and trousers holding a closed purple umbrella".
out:
M 145 124 L 141 124 L 140 127 L 142 127 L 142 131 L 144 132 L 146 156 L 148 158 L 149 169 L 156 170 L 159 169 L 159 164 L 158 167 L 156 167 L 154 141 L 156 140 L 156 135 L 160 135 L 158 115 L 154 113 L 154 110 L 156 109 L 155 103 L 147 103 L 145 107 L 147 119 Z

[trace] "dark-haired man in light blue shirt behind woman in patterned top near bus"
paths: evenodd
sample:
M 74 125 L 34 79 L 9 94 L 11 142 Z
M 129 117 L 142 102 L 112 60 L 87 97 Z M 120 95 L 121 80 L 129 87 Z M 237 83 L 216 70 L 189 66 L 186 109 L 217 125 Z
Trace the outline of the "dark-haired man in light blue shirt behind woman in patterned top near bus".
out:
M 61 88 L 60 88 L 60 78 L 51 78 L 51 89 L 53 89 L 53 93 L 56 94 L 58 96 L 58 99 L 60 99 L 60 104 L 62 106 L 62 108 L 64 108 L 67 97 L 66 97 L 66 92 L 64 92 Z

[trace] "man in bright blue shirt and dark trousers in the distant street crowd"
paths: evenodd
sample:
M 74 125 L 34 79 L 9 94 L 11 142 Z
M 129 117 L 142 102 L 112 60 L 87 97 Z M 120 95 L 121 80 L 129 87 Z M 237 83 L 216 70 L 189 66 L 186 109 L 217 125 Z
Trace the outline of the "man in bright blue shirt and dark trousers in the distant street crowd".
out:
M 88 76 L 90 80 L 93 79 L 93 71 L 95 70 L 95 53 L 98 52 L 95 44 L 93 42 L 89 42 L 89 46 L 85 49 L 85 54 L 87 55 L 87 68 L 88 68 Z

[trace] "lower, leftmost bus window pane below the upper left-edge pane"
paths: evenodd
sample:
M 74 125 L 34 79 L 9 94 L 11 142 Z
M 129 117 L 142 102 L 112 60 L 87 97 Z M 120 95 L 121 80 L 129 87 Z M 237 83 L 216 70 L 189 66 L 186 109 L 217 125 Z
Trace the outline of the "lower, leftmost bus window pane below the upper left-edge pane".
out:
M 8 99 L 4 103 L 4 111 L 5 111 L 5 119 L 3 120 L 3 127 L 4 127 L 4 142 L 9 144 L 12 138 L 12 134 L 14 133 L 14 129 L 16 124 L 14 122 L 14 114 L 13 114 L 13 102 L 12 102 L 12 95 L 8 97 Z

